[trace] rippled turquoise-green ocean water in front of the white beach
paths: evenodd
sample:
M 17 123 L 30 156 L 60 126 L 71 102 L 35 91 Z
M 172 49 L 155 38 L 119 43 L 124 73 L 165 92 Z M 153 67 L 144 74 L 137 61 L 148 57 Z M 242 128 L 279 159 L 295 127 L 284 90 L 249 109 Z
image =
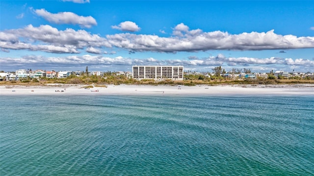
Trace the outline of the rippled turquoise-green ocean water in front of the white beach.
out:
M 313 176 L 314 97 L 1 96 L 0 176 Z

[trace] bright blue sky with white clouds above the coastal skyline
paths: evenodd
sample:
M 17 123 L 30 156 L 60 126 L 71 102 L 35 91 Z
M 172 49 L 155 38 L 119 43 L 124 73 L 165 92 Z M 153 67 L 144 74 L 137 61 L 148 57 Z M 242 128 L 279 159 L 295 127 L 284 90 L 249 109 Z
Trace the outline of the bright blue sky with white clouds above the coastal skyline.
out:
M 0 0 L 0 71 L 314 73 L 314 1 Z

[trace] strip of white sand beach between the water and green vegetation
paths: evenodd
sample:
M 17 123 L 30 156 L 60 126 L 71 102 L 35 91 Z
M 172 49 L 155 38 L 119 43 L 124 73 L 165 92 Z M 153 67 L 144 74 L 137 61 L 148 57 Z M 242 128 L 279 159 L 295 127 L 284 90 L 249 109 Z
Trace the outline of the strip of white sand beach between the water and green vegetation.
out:
M 0 86 L 0 95 L 314 95 L 314 85 L 107 85 Z M 92 92 L 99 90 L 99 92 Z M 60 91 L 60 92 L 55 92 Z M 61 92 L 63 91 L 63 92 Z

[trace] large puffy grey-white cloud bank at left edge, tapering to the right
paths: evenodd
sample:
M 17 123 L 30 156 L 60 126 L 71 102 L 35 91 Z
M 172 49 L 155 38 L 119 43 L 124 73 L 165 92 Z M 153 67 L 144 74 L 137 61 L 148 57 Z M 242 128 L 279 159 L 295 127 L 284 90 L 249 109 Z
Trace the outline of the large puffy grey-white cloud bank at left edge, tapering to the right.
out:
M 41 50 L 55 53 L 79 53 L 85 47 L 111 47 L 99 35 L 85 30 L 58 30 L 50 25 L 11 29 L 0 33 L 0 47 L 12 50 Z

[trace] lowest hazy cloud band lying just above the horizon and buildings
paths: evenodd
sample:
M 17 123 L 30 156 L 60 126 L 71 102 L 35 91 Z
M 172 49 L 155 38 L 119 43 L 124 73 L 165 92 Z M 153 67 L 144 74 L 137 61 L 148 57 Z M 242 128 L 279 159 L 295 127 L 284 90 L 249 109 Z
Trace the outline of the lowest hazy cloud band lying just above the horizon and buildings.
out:
M 22 69 L 27 65 L 38 69 L 69 69 L 69 68 L 85 68 L 86 65 L 108 68 L 112 67 L 115 71 L 117 69 L 131 69 L 132 65 L 182 65 L 186 68 L 207 68 L 207 71 L 211 71 L 211 67 L 223 66 L 225 68 L 243 68 L 249 67 L 259 70 L 267 70 L 272 68 L 272 65 L 281 65 L 283 70 L 298 67 L 305 69 L 314 68 L 314 61 L 308 59 L 292 59 L 292 58 L 251 58 L 251 57 L 226 57 L 223 54 L 217 56 L 210 56 L 208 58 L 195 58 L 188 60 L 181 59 L 166 59 L 158 60 L 153 57 L 144 59 L 131 59 L 122 56 L 117 57 L 104 57 L 102 55 L 71 55 L 60 57 L 46 57 L 41 55 L 26 55 L 23 57 L 1 57 L 1 68 L 17 66 L 16 69 Z M 45 66 L 46 68 L 42 68 Z M 271 70 L 271 69 L 270 69 Z

